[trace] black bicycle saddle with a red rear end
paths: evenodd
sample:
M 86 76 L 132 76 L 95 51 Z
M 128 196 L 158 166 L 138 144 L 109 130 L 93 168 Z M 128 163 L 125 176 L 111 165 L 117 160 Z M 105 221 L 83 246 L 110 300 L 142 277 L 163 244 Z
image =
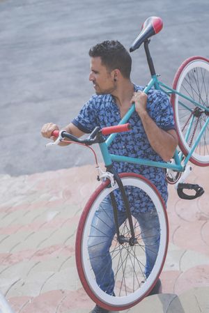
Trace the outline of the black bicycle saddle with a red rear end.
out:
M 134 40 L 132 46 L 130 47 L 130 52 L 138 49 L 144 41 L 146 41 L 151 36 L 159 33 L 162 29 L 163 23 L 162 19 L 157 16 L 151 16 L 146 19 L 144 24 L 141 27 L 141 32 L 139 36 Z

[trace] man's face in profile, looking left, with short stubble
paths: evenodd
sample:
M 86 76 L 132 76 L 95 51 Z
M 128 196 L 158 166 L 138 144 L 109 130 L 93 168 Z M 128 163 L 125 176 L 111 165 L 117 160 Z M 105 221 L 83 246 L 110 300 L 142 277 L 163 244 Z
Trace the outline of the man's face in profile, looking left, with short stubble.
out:
M 93 88 L 98 95 L 110 94 L 116 90 L 114 73 L 109 72 L 102 65 L 100 56 L 91 58 L 89 80 L 93 82 Z

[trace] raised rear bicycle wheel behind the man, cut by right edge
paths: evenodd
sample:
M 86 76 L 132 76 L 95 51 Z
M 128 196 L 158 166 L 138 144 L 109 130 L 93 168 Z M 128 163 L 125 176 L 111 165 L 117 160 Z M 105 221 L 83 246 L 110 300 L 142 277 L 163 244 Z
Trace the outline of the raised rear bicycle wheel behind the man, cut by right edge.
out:
M 185 60 L 176 72 L 173 89 L 180 93 L 171 95 L 180 149 L 188 155 L 198 142 L 189 160 L 195 165 L 208 166 L 209 60 L 201 56 Z

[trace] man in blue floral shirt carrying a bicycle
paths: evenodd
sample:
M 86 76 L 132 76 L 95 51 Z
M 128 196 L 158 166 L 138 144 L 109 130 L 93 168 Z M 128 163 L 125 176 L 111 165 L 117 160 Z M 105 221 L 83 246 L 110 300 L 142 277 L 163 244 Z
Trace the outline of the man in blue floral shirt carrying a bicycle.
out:
M 130 80 L 132 60 L 125 47 L 118 41 L 107 40 L 95 45 L 89 50 L 91 56 L 91 72 L 89 80 L 93 83 L 95 95 L 82 107 L 78 116 L 65 130 L 76 137 L 91 132 L 95 126 L 100 128 L 109 125 L 117 125 L 132 103 L 135 103 L 136 112 L 128 121 L 132 125 L 132 131 L 127 136 L 119 136 L 109 147 L 109 151 L 115 154 L 128 155 L 135 158 L 146 158 L 155 161 L 168 161 L 178 144 L 178 137 L 173 122 L 173 112 L 167 96 L 155 90 L 150 90 L 148 96 L 143 93 L 141 86 L 133 84 Z M 42 136 L 50 138 L 53 130 L 59 130 L 58 125 L 47 123 L 42 127 Z M 128 139 L 127 139 L 128 138 Z M 66 143 L 61 143 L 65 145 Z M 164 170 L 156 167 L 146 167 L 123 162 L 115 162 L 114 168 L 118 172 L 134 171 L 148 178 L 159 190 L 164 201 L 167 201 L 167 183 Z M 111 206 L 111 204 L 106 204 Z M 120 211 L 120 208 L 118 208 Z M 121 209 L 121 211 L 123 211 Z M 123 212 L 121 213 L 123 215 Z M 145 206 L 134 208 L 137 220 L 142 224 L 156 225 L 156 217 L 152 215 L 149 203 Z M 97 217 L 95 217 L 96 219 Z M 141 226 L 142 227 L 142 226 Z M 158 246 L 156 238 L 159 238 L 159 229 L 153 227 L 155 232 L 156 251 Z M 153 241 L 154 242 L 154 241 Z M 91 254 L 91 251 L 89 251 Z M 146 252 L 146 277 L 155 264 L 155 258 Z M 92 259 L 95 259 L 92 257 Z M 102 267 L 104 260 L 92 264 L 95 276 Z M 111 269 L 109 271 L 111 273 Z M 100 280 L 100 277 L 97 277 Z M 108 293 L 114 294 L 114 282 L 107 275 L 109 284 Z M 98 282 L 102 289 L 102 282 Z M 160 289 L 160 280 L 157 282 Z M 107 292 L 107 291 L 105 291 Z M 153 291 L 157 293 L 157 290 Z M 98 305 L 92 313 L 105 313 L 107 310 Z

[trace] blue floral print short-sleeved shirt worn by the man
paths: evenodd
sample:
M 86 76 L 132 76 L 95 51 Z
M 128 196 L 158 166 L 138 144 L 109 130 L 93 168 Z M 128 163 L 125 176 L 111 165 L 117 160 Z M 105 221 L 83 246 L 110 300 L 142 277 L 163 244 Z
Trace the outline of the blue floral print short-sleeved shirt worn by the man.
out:
M 143 87 L 134 85 L 135 91 L 143 91 Z M 158 127 L 163 130 L 175 129 L 173 121 L 173 110 L 169 98 L 159 90 L 150 89 L 148 92 L 147 112 Z M 74 125 L 86 133 L 99 126 L 100 128 L 117 125 L 121 121 L 120 110 L 111 95 L 93 95 L 82 107 L 78 116 L 72 121 Z M 144 158 L 163 162 L 160 155 L 155 153 L 148 142 L 146 132 L 137 112 L 134 112 L 128 123 L 132 125 L 129 132 L 118 133 L 114 142 L 109 146 L 111 154 L 125 155 L 132 158 Z M 165 203 L 167 202 L 167 181 L 164 169 L 159 167 L 148 167 L 127 162 L 113 162 L 114 169 L 121 172 L 134 172 L 148 178 L 159 190 Z M 127 194 L 132 212 L 145 213 L 153 210 L 153 202 L 144 192 L 138 188 L 127 187 Z M 120 194 L 116 193 L 118 210 L 124 211 L 123 201 Z

